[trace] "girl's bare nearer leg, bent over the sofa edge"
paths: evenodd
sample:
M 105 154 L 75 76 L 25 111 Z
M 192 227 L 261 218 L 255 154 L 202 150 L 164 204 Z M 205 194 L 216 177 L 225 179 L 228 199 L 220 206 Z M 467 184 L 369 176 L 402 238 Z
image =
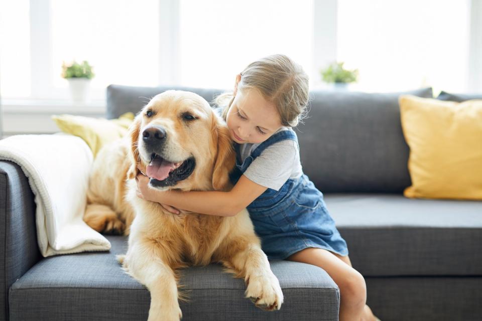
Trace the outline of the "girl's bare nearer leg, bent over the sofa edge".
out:
M 365 279 L 351 267 L 348 257 L 337 257 L 324 249 L 306 248 L 288 260 L 319 266 L 331 276 L 340 289 L 340 321 L 375 320 L 370 308 L 366 309 Z

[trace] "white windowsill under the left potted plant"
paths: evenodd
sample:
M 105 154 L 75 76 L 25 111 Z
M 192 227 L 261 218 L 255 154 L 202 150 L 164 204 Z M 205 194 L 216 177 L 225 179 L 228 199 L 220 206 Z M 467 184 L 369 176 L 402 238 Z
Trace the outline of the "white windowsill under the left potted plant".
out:
M 105 114 L 105 100 L 74 103 L 70 100 L 3 99 L 2 112 L 6 114 Z

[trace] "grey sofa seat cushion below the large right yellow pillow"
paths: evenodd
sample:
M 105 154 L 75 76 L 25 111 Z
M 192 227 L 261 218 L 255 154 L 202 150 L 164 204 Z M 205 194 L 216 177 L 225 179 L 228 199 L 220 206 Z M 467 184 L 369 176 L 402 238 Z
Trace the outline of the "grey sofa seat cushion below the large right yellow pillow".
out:
M 482 202 L 325 194 L 364 276 L 482 275 Z

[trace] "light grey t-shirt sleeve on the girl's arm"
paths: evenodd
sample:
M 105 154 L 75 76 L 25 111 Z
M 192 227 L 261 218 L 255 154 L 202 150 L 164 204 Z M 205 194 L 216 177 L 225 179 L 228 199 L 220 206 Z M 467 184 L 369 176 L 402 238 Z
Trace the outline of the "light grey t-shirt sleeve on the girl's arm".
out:
M 291 139 L 282 140 L 267 147 L 246 169 L 251 181 L 278 191 L 290 178 L 298 149 Z

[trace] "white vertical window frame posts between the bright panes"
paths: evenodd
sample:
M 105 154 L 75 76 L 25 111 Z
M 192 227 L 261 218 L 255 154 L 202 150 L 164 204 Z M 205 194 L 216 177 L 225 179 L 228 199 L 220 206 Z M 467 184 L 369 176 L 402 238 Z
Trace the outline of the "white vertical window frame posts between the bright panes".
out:
M 471 10 L 467 20 L 470 24 L 467 92 L 482 89 L 482 4 L 477 0 L 465 0 Z M 50 0 L 30 0 L 30 62 L 31 95 L 21 100 L 68 100 L 68 88 L 55 88 L 51 81 L 56 70 L 52 61 L 52 36 Z M 314 0 L 312 70 L 309 76 L 314 88 L 323 87 L 319 77 L 320 68 L 336 60 L 337 56 L 337 0 Z M 178 0 L 159 0 L 159 85 L 180 85 L 179 61 L 179 2 Z M 49 44 L 49 45 L 45 45 Z M 49 81 L 46 81 L 48 79 Z M 93 100 L 104 100 L 105 89 L 91 89 Z M 13 100 L 13 99 L 10 99 Z M 9 101 L 10 101 L 9 100 Z

